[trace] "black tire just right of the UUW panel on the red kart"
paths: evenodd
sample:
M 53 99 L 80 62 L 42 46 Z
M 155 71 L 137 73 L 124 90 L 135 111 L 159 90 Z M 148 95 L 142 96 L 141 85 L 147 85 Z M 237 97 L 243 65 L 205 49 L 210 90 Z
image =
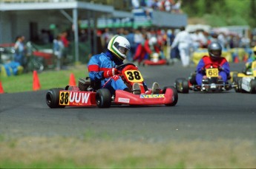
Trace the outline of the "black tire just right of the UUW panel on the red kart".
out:
M 111 106 L 111 92 L 108 89 L 97 90 L 96 105 L 99 108 L 109 108 Z

